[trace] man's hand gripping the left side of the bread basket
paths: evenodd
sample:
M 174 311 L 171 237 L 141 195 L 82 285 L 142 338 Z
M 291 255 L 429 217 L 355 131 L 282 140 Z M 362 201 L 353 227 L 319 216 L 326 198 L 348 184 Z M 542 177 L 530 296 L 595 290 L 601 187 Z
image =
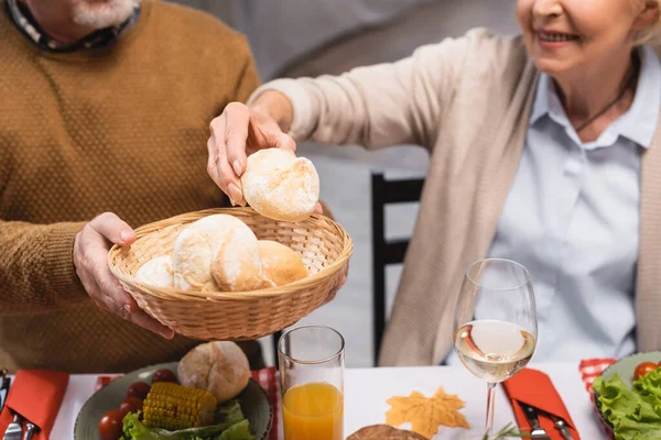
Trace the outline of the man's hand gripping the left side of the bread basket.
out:
M 111 212 L 98 216 L 76 234 L 76 274 L 97 306 L 163 338 L 172 339 L 174 332 L 141 310 L 108 267 L 111 243 L 124 245 L 134 241 L 136 233 L 119 217 Z

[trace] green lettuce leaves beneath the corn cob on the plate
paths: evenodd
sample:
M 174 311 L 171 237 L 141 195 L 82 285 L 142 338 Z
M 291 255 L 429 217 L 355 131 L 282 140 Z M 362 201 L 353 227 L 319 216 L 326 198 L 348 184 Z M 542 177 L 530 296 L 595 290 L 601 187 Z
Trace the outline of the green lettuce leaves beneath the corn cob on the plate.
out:
M 238 400 L 231 400 L 218 406 L 214 425 L 177 431 L 148 428 L 140 421 L 140 413 L 129 413 L 123 418 L 122 440 L 254 440 L 254 437 Z

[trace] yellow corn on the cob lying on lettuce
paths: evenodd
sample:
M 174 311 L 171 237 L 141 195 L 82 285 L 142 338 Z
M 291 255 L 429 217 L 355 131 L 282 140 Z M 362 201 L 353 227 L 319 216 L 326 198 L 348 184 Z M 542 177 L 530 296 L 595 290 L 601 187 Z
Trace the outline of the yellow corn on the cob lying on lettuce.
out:
M 144 425 L 171 431 L 210 425 L 217 405 L 209 392 L 169 382 L 152 385 L 142 404 Z

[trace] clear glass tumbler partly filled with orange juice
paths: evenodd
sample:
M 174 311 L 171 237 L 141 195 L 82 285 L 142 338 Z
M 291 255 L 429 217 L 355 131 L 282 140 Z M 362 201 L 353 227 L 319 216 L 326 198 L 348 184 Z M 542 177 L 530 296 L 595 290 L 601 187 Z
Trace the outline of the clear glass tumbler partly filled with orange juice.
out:
M 344 440 L 344 338 L 322 326 L 278 342 L 284 440 Z

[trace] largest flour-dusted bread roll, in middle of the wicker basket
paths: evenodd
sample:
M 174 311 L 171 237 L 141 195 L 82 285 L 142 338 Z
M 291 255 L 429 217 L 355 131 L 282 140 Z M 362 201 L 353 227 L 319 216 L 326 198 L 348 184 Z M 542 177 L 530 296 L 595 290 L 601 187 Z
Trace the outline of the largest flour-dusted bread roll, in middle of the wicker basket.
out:
M 259 289 L 262 266 L 257 237 L 232 216 L 199 219 L 178 234 L 173 271 L 174 286 L 182 290 Z

